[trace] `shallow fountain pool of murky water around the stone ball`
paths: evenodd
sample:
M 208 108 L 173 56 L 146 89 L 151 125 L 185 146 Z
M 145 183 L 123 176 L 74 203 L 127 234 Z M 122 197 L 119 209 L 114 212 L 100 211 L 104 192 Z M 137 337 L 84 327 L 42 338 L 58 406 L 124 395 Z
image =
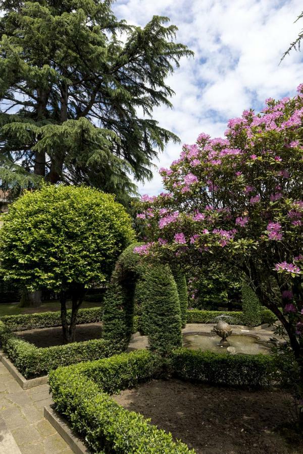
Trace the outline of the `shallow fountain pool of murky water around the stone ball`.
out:
M 268 355 L 271 353 L 268 343 L 261 341 L 259 336 L 235 332 L 224 345 L 220 343 L 220 338 L 212 332 L 186 332 L 183 334 L 183 347 L 189 350 L 208 350 L 217 353 L 227 352 L 227 347 L 233 347 L 236 354 L 246 355 L 257 355 L 259 353 Z

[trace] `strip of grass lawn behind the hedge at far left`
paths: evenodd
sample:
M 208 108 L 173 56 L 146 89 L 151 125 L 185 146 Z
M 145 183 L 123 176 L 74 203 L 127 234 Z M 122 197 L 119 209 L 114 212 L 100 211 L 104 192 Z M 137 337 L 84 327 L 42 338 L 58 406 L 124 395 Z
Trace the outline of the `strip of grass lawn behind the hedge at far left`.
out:
M 101 303 L 83 301 L 81 308 L 99 307 Z M 66 303 L 68 309 L 72 308 L 71 301 Z M 0 317 L 4 315 L 34 314 L 37 312 L 60 311 L 59 301 L 43 301 L 40 307 L 19 307 L 19 303 L 0 304 Z

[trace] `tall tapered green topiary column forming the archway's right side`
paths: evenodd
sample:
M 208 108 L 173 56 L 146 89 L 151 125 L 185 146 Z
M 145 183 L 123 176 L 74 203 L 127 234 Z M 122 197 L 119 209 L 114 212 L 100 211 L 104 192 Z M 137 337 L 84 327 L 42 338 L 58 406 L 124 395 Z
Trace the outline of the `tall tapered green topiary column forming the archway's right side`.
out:
M 146 297 L 141 323 L 151 351 L 166 355 L 182 345 L 180 302 L 168 265 L 150 266 L 145 275 Z

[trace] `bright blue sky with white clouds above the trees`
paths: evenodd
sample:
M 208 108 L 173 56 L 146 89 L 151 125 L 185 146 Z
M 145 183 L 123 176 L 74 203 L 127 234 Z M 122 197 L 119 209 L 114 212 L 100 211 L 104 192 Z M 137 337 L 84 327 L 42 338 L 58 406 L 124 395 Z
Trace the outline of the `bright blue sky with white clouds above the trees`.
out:
M 227 121 L 244 109 L 260 111 L 266 98 L 294 96 L 303 82 L 302 52 L 281 56 L 303 28 L 300 0 L 118 0 L 118 19 L 144 26 L 154 15 L 168 16 L 177 25 L 177 42 L 194 51 L 167 79 L 175 95 L 173 109 L 154 110 L 153 118 L 183 143 L 198 134 L 222 137 Z M 156 166 L 169 167 L 181 152 L 169 143 Z M 138 185 L 140 194 L 162 190 L 157 168 L 154 178 Z

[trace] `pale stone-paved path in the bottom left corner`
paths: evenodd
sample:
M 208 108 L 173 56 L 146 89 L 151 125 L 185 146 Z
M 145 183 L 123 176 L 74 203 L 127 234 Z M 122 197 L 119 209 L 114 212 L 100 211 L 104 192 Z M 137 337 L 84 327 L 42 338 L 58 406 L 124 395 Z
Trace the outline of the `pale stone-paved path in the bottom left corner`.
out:
M 5 422 L 22 454 L 73 452 L 43 416 L 43 408 L 51 403 L 47 384 L 23 390 L 0 363 L 0 418 Z M 10 450 L 2 445 L 0 434 L 0 454 L 15 452 L 18 451 L 13 443 Z

